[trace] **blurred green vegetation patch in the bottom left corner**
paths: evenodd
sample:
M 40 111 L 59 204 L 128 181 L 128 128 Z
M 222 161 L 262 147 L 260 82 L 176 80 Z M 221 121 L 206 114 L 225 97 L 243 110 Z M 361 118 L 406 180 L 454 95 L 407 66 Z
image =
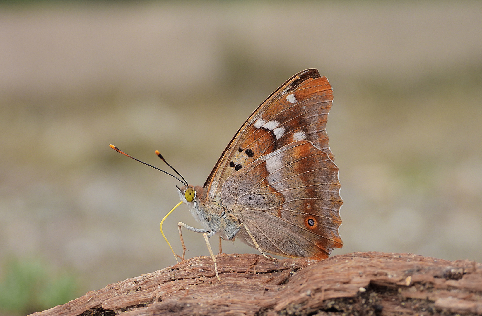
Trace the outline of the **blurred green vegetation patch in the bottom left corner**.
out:
M 0 315 L 26 315 L 79 296 L 77 277 L 54 273 L 38 259 L 10 259 L 3 264 L 0 283 Z

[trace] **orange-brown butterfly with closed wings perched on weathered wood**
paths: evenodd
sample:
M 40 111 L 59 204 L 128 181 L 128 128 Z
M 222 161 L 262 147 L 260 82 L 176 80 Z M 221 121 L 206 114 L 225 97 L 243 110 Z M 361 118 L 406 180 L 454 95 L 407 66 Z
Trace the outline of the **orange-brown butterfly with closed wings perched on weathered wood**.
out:
M 218 279 L 208 239 L 215 234 L 238 238 L 270 260 L 276 259 L 264 252 L 324 259 L 343 247 L 338 167 L 326 133 L 332 101 L 326 77 L 317 69 L 301 71 L 241 125 L 202 186 L 187 184 L 176 171 L 185 184 L 176 186 L 178 205 L 186 204 L 203 226 L 178 223 L 182 260 L 182 227 L 203 234 Z

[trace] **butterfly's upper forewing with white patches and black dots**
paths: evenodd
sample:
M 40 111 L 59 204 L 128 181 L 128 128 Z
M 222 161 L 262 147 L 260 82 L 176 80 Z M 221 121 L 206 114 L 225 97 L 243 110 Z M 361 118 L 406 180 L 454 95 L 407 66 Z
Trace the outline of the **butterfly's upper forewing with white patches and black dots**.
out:
M 310 141 L 334 160 L 325 131 L 332 100 L 331 85 L 317 69 L 287 80 L 234 135 L 203 185 L 207 198 L 214 199 L 234 172 L 297 140 Z

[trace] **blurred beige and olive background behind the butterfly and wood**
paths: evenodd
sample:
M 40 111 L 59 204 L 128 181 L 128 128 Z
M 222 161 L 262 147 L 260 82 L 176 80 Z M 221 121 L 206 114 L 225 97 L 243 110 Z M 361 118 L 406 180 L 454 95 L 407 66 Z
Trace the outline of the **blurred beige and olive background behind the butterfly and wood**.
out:
M 0 313 L 174 264 L 159 223 L 179 183 L 108 145 L 167 169 L 160 150 L 203 184 L 306 68 L 334 89 L 334 254 L 482 262 L 481 39 L 481 1 L 1 2 Z M 199 226 L 185 206 L 164 222 L 177 253 L 179 221 Z M 184 236 L 188 257 L 208 255 Z

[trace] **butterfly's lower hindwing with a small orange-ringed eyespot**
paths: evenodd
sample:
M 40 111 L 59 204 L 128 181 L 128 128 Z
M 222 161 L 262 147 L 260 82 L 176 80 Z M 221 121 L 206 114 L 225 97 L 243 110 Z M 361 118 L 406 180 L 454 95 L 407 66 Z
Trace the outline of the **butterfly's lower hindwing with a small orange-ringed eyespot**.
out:
M 327 258 L 338 234 L 338 167 L 307 140 L 285 145 L 233 173 L 221 200 L 261 249 L 285 257 Z M 241 230 L 241 238 L 252 244 Z

